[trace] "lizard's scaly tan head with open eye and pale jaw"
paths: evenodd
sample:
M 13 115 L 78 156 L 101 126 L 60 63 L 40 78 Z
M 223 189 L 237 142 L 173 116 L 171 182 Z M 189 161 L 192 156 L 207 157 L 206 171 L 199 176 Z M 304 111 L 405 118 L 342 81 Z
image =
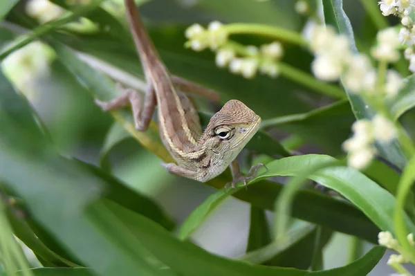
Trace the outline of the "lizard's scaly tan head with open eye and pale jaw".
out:
M 212 159 L 225 169 L 252 136 L 257 133 L 261 117 L 239 100 L 230 100 L 210 118 L 204 138 L 205 148 L 212 151 Z

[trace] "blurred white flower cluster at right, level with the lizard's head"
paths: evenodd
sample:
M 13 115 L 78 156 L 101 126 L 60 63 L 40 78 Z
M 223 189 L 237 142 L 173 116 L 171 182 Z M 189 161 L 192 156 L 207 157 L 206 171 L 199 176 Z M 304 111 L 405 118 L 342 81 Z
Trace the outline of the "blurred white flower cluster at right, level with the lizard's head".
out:
M 354 122 L 352 129 L 353 136 L 344 141 L 342 146 L 349 154 L 348 165 L 356 169 L 365 169 L 373 160 L 376 154 L 375 141 L 387 143 L 397 135 L 394 123 L 380 114 L 372 120 Z

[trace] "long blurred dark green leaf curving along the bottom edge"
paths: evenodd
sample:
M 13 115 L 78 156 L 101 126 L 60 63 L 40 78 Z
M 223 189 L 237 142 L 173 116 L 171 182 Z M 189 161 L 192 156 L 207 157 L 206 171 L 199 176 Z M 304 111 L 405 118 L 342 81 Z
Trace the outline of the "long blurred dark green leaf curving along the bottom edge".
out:
M 155 257 L 180 275 L 367 275 L 378 263 L 385 248 L 376 246 L 357 261 L 333 270 L 308 272 L 293 268 L 278 268 L 249 264 L 212 255 L 187 241 L 179 241 L 156 223 L 118 206 L 108 208 L 124 221 L 131 232 Z

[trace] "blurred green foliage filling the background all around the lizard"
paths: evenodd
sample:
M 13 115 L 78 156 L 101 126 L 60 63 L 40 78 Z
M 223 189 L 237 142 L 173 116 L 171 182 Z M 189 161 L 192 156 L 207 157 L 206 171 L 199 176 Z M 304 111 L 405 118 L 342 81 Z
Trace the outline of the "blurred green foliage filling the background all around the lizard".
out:
M 239 157 L 243 171 L 255 163 L 266 168 L 247 190 L 237 185 L 228 191 L 229 170 L 206 185 L 167 174 L 160 161 L 172 157 L 155 121 L 140 132 L 131 111 L 102 113 L 93 103 L 114 98 L 117 82 L 145 92 L 122 1 L 52 0 L 48 11 L 40 2 L 30 10 L 27 1 L 5 1 L 0 275 L 368 275 L 385 246 L 400 254 L 400 261 L 391 261 L 398 272 L 409 273 L 402 262 L 415 264 L 410 64 L 403 56 L 394 62 L 374 58 L 377 93 L 356 93 L 344 75 L 331 82 L 319 77 L 312 64 L 320 54 L 302 35 L 310 19 L 320 18 L 349 39 L 353 55 L 369 55 L 379 44 L 378 30 L 401 26 L 396 17 L 382 17 L 376 1 L 136 1 L 169 71 L 218 91 L 221 104 L 241 100 L 262 118 Z M 52 11 L 55 18 L 46 18 Z M 194 38 L 186 41 L 187 28 L 215 20 L 223 22 L 229 40 L 216 57 L 194 51 L 201 49 Z M 261 45 L 281 45 L 284 54 L 270 57 Z M 224 49 L 234 51 L 233 65 L 218 62 Z M 243 62 L 252 60 L 262 74 L 243 71 Z M 224 64 L 230 72 L 219 68 Z M 385 100 L 388 68 L 405 80 Z M 220 105 L 194 100 L 206 125 Z M 379 115 L 391 122 L 394 135 L 387 142 L 376 135 L 366 141 L 376 156 L 355 168 L 344 141 L 355 120 Z M 357 132 L 355 127 L 353 137 Z M 212 216 L 225 212 L 232 197 L 250 208 L 247 246 L 238 251 L 230 241 L 221 248 L 234 254 L 210 250 L 203 241 L 222 239 L 209 241 L 201 229 L 214 225 L 221 236 L 241 211 L 226 223 L 214 224 Z M 349 235 L 353 246 L 340 246 L 349 259 L 333 268 L 324 256 L 339 233 Z M 370 249 L 356 249 L 364 245 Z

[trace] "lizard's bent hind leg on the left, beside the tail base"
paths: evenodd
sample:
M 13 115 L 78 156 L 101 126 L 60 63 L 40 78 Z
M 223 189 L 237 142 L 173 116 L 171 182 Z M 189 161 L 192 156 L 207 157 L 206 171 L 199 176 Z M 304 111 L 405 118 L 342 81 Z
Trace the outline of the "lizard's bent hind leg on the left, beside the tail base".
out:
M 123 89 L 120 84 L 117 84 L 117 86 L 123 91 L 122 95 L 113 100 L 109 100 L 108 102 L 95 100 L 95 104 L 101 107 L 103 111 L 120 109 L 131 104 L 136 129 L 138 131 L 145 131 L 149 127 L 154 108 L 156 107 L 156 93 L 154 87 L 151 84 L 147 87 L 145 102 L 142 104 L 142 98 L 137 91 L 134 89 Z

